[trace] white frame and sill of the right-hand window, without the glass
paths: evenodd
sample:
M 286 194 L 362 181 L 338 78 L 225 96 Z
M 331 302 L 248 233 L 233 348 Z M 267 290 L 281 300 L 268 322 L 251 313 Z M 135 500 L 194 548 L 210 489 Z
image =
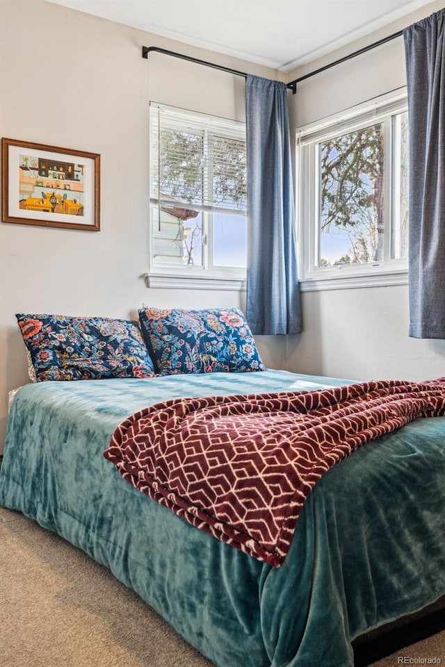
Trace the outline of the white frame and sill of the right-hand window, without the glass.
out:
M 394 164 L 396 151 L 392 118 L 407 111 L 406 86 L 368 100 L 296 130 L 296 217 L 300 288 L 302 291 L 403 285 L 407 258 L 391 258 L 394 217 Z M 323 141 L 377 122 L 385 131 L 385 236 L 382 261 L 319 267 L 318 197 L 319 150 Z

